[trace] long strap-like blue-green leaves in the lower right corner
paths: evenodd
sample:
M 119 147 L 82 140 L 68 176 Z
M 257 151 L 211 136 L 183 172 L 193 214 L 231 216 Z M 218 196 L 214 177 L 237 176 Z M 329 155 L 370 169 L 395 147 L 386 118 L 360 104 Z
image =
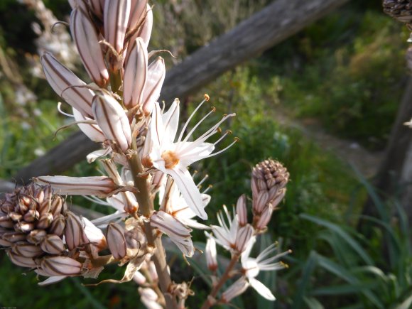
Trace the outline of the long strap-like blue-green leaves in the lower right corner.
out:
M 359 177 L 380 214 L 378 219 L 365 218 L 374 227 L 371 239 L 365 239 L 352 227 L 300 215 L 325 228 L 316 236 L 317 246 L 326 243 L 329 249 L 323 254 L 312 251 L 307 261 L 300 264 L 302 276 L 293 308 L 305 308 L 309 305 L 308 299 L 317 299 L 318 303 L 333 308 L 349 304 L 354 308 L 410 307 L 412 247 L 406 214 L 396 200 L 391 203 L 392 207 L 385 205 L 367 180 Z M 389 215 L 394 208 L 398 222 Z

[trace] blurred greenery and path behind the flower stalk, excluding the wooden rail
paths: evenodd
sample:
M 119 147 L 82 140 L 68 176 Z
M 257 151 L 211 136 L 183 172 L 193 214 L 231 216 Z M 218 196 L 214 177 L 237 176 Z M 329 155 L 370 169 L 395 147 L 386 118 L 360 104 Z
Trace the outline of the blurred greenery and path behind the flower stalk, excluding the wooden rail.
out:
M 58 112 L 60 98 L 42 78 L 38 50 L 53 50 L 86 78 L 65 26 L 50 30 L 67 21 L 70 6 L 43 2 L 42 9 L 39 1 L 0 1 L 0 179 L 11 182 L 76 131 L 55 134 L 70 119 Z M 149 50 L 170 50 L 175 58 L 163 57 L 171 68 L 271 2 L 153 0 Z M 293 250 L 283 259 L 288 269 L 259 275 L 277 300 L 249 289 L 234 301 L 238 308 L 410 307 L 411 134 L 402 125 L 412 116 L 408 37 L 380 1 L 348 1 L 180 98 L 186 117 L 205 92 L 220 114 L 237 113 L 230 129 L 240 142 L 196 166 L 213 185 L 212 222 L 222 205 L 251 196 L 254 164 L 270 157 L 291 173 L 286 200 L 260 244 L 277 241 L 281 251 Z M 97 175 L 98 168 L 82 161 L 63 173 Z M 80 198 L 72 202 L 105 211 Z M 202 248 L 202 233 L 194 240 Z M 178 252 L 169 254 L 174 281 L 194 278 L 196 295 L 187 304 L 197 308 L 209 291 L 203 260 L 190 261 L 189 269 Z M 121 278 L 121 271 L 114 266 L 102 278 Z M 82 283 L 95 281 L 69 278 L 42 288 L 35 273 L 13 266 L 1 250 L 0 278 L 0 307 L 143 308 L 134 282 L 87 287 Z

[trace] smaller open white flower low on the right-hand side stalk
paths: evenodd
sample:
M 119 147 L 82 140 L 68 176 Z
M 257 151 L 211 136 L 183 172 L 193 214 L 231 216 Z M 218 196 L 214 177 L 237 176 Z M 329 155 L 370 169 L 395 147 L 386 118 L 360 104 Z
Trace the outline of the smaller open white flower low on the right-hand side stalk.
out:
M 249 242 L 249 245 L 247 246 L 245 251 L 242 253 L 241 262 L 244 276 L 247 278 L 247 281 L 249 281 L 249 284 L 252 286 L 252 288 L 254 288 L 261 296 L 263 296 L 267 300 L 275 300 L 276 298 L 275 296 L 273 296 L 269 288 L 258 281 L 256 279 L 256 276 L 258 276 L 259 271 L 277 271 L 279 269 L 286 268 L 286 264 L 274 261 L 279 259 L 281 256 L 289 254 L 291 251 L 286 251 L 281 254 L 271 256 L 271 254 L 276 251 L 276 244 L 272 244 L 271 246 L 268 246 L 266 249 L 264 249 L 264 251 L 261 251 L 261 253 L 256 258 L 251 258 L 249 257 L 249 255 L 251 248 L 254 245 L 254 241 L 255 239 L 253 238 L 253 240 Z

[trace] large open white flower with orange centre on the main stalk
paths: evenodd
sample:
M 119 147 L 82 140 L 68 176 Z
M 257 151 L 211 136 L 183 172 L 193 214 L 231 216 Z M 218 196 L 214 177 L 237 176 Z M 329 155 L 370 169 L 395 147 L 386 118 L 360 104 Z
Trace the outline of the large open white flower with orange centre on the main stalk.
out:
M 205 100 L 203 100 L 203 102 L 205 102 Z M 199 109 L 202 103 L 195 109 L 195 112 Z M 188 171 L 188 166 L 203 158 L 215 156 L 226 149 L 224 148 L 221 151 L 217 151 L 217 153 L 212 153 L 215 149 L 215 145 L 219 143 L 219 141 L 222 141 L 227 134 L 224 134 L 215 143 L 206 143 L 205 141 L 209 139 L 210 136 L 219 132 L 219 125 L 222 124 L 223 121 L 235 114 L 223 116 L 217 124 L 208 129 L 202 136 L 195 139 L 195 141 L 188 141 L 188 139 L 193 135 L 197 126 L 199 126 L 200 123 L 214 111 L 215 109 L 212 109 L 210 113 L 195 124 L 193 129 L 191 129 L 188 135 L 183 139 L 183 134 L 188 127 L 190 119 L 192 119 L 193 114 L 195 114 L 195 112 L 193 112 L 183 126 L 177 141 L 175 141 L 175 136 L 178 131 L 179 101 L 178 99 L 175 99 L 168 112 L 164 114 L 162 114 L 161 108 L 156 102 L 155 108 L 153 109 L 151 127 L 148 133 L 150 139 L 147 139 L 148 142 L 145 146 L 146 153 L 148 152 L 149 161 L 151 161 L 155 168 L 170 175 L 173 180 L 175 180 L 175 183 L 178 185 L 178 188 L 190 209 L 202 219 L 207 219 L 207 214 L 203 209 L 202 195 L 200 195 L 199 189 L 195 185 L 193 178 Z M 230 146 L 232 146 L 232 144 Z

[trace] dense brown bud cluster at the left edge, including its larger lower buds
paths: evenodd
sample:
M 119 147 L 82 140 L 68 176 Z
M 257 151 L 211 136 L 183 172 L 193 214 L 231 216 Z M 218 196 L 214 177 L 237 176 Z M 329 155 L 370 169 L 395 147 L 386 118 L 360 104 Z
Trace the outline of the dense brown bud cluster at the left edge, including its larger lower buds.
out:
M 7 193 L 0 200 L 0 245 L 13 264 L 35 268 L 43 276 L 80 274 L 78 252 L 67 250 L 63 242 L 63 236 L 72 239 L 67 213 L 65 200 L 50 186 L 31 184 Z

